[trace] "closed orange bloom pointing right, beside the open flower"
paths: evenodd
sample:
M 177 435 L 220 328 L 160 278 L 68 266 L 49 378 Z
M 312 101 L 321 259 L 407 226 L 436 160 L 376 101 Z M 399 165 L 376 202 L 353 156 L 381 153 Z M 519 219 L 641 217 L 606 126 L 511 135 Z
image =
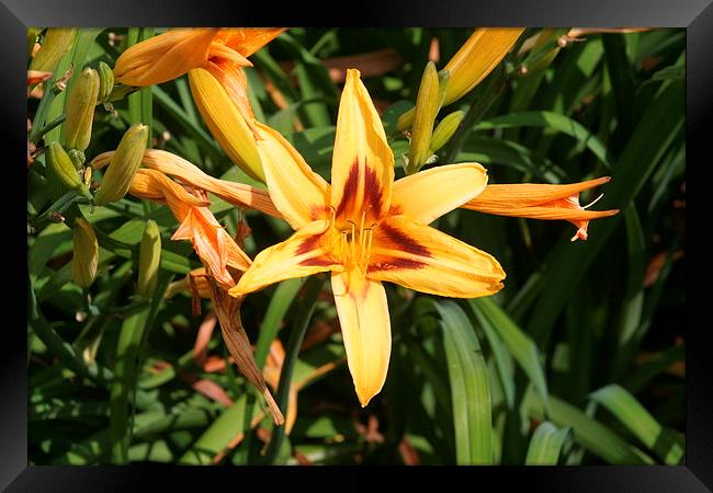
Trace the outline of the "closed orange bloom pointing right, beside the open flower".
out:
M 602 176 L 566 185 L 535 183 L 488 185 L 480 195 L 463 207 L 499 216 L 567 220 L 577 227 L 571 241 L 586 240 L 590 220 L 613 216 L 619 213 L 619 209 L 586 210 L 593 203 L 585 207 L 580 206 L 579 193 L 608 183 L 610 180 L 609 176 Z

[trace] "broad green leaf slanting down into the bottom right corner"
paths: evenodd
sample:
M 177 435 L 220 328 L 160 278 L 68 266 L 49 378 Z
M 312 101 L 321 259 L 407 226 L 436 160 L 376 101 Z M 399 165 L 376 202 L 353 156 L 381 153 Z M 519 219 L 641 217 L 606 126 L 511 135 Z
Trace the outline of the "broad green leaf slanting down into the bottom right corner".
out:
M 665 429 L 623 387 L 611 383 L 590 394 L 668 466 L 680 465 L 686 444 Z

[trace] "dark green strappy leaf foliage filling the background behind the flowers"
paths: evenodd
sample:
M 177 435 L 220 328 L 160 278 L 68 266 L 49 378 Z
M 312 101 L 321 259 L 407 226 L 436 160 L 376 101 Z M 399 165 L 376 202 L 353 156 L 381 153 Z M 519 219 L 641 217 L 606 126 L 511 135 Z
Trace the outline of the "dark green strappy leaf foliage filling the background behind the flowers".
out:
M 527 30 L 519 44 L 537 31 Z M 113 67 L 128 44 L 160 30 L 80 32 L 56 77 L 70 62 Z M 399 162 L 408 140 L 395 131 L 396 117 L 416 99 L 431 39 L 439 39 L 442 68 L 469 33 L 291 28 L 251 57 L 251 103 L 258 119 L 282 131 L 329 179 L 340 87 L 321 60 L 392 49 L 403 62 L 364 83 L 385 108 Z M 132 298 L 147 218 L 162 232 L 159 293 L 200 266 L 188 242 L 169 240 L 177 227 L 170 211 L 131 196 L 91 214 L 73 205 L 93 223 L 101 246 L 100 275 L 82 291 L 69 274 L 71 229 L 44 220 L 58 197 L 41 154 L 27 174 L 30 462 L 682 463 L 684 44 L 683 30 L 589 34 L 524 76 L 521 64 L 533 67 L 535 60 L 517 56 L 516 45 L 488 79 L 441 112 L 483 110 L 460 141 L 439 152 L 439 163 L 449 157 L 478 161 L 490 183 L 611 175 L 595 208 L 621 213 L 593 221 L 589 240 L 574 243 L 575 229 L 565 221 L 465 209 L 441 218 L 439 229 L 500 261 L 506 287 L 491 298 L 449 300 L 389 285 L 392 362 L 384 390 L 366 409 L 343 364 L 329 283 L 302 351 L 290 339 L 304 321 L 302 280 L 247 298 L 242 322 L 259 365 L 274 337 L 287 354 L 299 351 L 293 381 L 336 362 L 301 389 L 296 424 L 279 450 L 267 448 L 272 423 L 259 419 L 261 401 L 237 370 L 228 365 L 208 372 L 194 364 L 210 302 L 203 300 L 203 316 L 193 317 L 189 294 L 148 307 Z M 270 98 L 265 80 L 284 96 L 284 108 Z M 214 176 L 256 184 L 211 137 L 185 77 L 114 107 L 115 114 L 97 107 L 88 160 L 115 149 L 125 129 L 143 122 L 154 147 Z M 29 100 L 31 119 L 37 111 L 37 100 Z M 61 114 L 60 95 L 46 122 Z M 212 199 L 230 233 L 246 219 L 251 257 L 291 233 L 283 221 L 254 211 L 241 216 Z M 133 334 L 131 341 L 120 337 L 122 331 Z M 208 348 L 227 358 L 218 330 Z M 229 401 L 196 390 L 197 380 L 215 383 Z M 131 405 L 122 408 L 126 401 Z M 242 438 L 237 446 L 236 437 Z

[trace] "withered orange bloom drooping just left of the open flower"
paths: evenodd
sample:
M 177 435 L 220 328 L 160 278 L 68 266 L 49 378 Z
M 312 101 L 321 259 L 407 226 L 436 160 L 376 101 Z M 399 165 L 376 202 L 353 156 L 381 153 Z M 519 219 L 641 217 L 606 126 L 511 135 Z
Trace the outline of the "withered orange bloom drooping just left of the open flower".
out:
M 250 257 L 240 250 L 208 209 L 205 192 L 189 193 L 163 173 L 140 169 L 128 191 L 132 195 L 165 203 L 180 221 L 171 240 L 190 240 L 207 272 L 223 289 L 235 286 L 228 266 L 246 271 Z

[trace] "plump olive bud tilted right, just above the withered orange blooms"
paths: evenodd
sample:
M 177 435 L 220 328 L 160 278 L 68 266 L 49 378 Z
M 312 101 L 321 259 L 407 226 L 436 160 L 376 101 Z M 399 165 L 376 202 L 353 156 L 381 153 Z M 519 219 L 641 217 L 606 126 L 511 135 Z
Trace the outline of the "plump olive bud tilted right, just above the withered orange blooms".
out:
M 94 196 L 97 205 L 109 204 L 126 195 L 144 159 L 147 137 L 148 126 L 140 123 L 132 125 L 126 130 L 104 173 L 101 187 Z

